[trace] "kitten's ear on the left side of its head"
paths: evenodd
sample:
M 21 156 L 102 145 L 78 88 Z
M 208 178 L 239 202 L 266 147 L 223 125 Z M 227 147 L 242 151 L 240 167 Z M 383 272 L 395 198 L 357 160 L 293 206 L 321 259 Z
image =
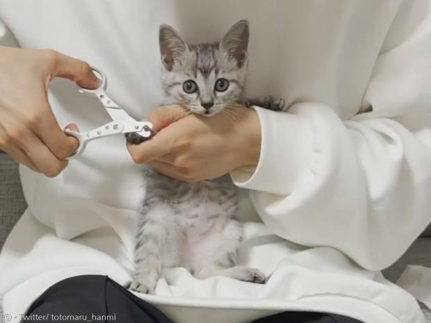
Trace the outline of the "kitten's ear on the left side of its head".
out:
M 182 40 L 177 31 L 171 26 L 161 25 L 158 31 L 158 44 L 163 65 L 168 70 L 172 69 L 174 62 L 184 51 L 188 50 L 186 42 Z

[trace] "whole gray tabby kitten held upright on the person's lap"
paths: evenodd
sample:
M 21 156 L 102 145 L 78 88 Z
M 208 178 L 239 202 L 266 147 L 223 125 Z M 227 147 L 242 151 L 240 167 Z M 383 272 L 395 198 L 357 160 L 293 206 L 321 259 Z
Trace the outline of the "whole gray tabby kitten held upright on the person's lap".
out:
M 246 21 L 234 24 L 218 44 L 188 45 L 172 27 L 161 26 L 162 81 L 170 103 L 211 117 L 241 101 L 248 40 Z M 281 110 L 284 101 L 268 97 L 252 104 Z M 136 133 L 127 135 L 131 144 L 143 140 Z M 146 167 L 145 180 L 131 289 L 153 293 L 162 268 L 177 266 L 197 279 L 222 275 L 265 283 L 265 274 L 256 268 L 236 266 L 243 231 L 233 219 L 237 199 L 229 176 L 184 183 Z

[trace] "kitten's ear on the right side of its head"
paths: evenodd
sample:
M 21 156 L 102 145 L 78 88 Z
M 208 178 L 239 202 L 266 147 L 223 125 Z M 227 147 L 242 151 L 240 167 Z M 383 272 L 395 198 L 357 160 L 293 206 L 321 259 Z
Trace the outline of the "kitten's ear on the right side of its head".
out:
M 220 42 L 220 49 L 227 51 L 231 58 L 234 58 L 238 63 L 238 67 L 242 67 L 247 60 L 248 39 L 250 31 L 248 29 L 247 20 L 241 20 L 231 26 L 225 37 Z

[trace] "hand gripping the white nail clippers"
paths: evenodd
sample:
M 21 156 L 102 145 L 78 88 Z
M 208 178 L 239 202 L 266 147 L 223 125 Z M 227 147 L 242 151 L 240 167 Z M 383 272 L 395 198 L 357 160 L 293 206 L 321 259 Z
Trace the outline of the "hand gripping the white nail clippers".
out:
M 46 176 L 58 175 L 78 147 L 56 122 L 47 90 L 55 77 L 97 88 L 90 66 L 49 49 L 0 47 L 0 149 Z

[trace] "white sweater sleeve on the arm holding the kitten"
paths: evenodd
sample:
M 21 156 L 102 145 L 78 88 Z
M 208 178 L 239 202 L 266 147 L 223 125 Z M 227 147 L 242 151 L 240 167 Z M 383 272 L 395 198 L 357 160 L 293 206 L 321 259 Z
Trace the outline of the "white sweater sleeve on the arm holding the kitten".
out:
M 409 31 L 398 26 L 408 26 Z M 361 110 L 255 108 L 255 169 L 231 173 L 277 235 L 343 251 L 369 270 L 396 261 L 431 221 L 431 19 L 391 28 Z

